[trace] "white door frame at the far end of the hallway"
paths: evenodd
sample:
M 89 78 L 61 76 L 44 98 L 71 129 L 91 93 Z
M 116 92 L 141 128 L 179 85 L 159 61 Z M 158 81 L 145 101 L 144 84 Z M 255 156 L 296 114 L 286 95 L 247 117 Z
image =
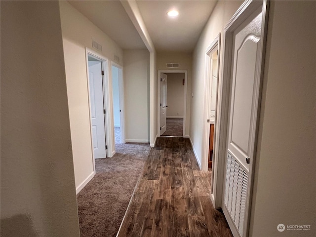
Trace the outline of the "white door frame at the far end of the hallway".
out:
M 160 75 L 161 73 L 184 73 L 184 99 L 183 99 L 183 137 L 189 137 L 186 134 L 186 117 L 187 117 L 187 87 L 188 87 L 188 70 L 158 70 L 158 125 L 157 125 L 157 134 L 160 137 Z

